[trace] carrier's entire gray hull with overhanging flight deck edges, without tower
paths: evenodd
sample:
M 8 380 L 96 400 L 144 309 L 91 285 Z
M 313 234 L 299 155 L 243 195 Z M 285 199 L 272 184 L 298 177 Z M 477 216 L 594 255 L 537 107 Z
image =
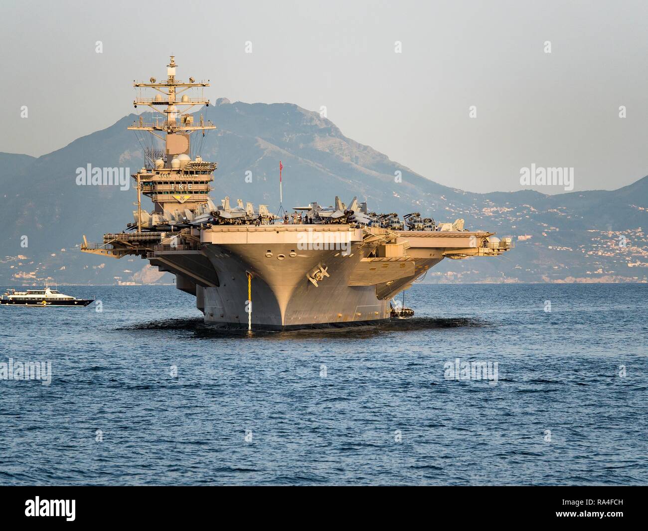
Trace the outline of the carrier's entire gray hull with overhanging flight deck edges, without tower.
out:
M 325 242 L 311 244 L 313 235 Z M 408 231 L 386 242 L 345 225 L 216 226 L 200 231 L 195 248 L 148 259 L 175 274 L 216 327 L 248 328 L 250 309 L 252 329 L 371 325 L 388 321 L 389 300 L 444 257 L 481 254 L 486 236 Z

